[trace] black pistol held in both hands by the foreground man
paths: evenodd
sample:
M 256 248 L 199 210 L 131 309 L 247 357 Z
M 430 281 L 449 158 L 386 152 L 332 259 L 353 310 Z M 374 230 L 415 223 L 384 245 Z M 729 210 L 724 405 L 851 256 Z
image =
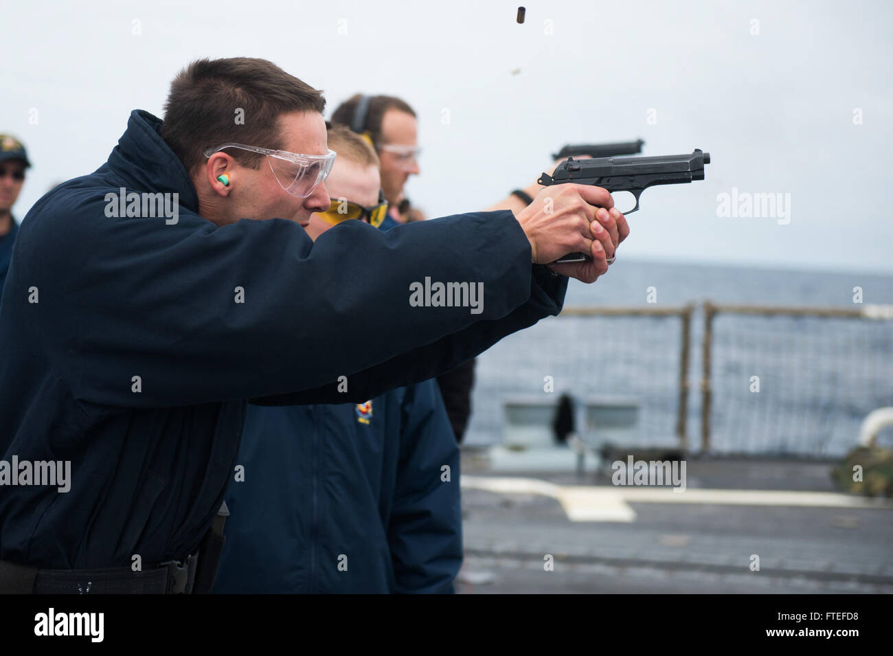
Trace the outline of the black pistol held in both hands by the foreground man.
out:
M 636 206 L 624 214 L 638 210 L 638 197 L 647 187 L 655 185 L 680 185 L 692 180 L 704 179 L 704 165 L 710 163 L 710 154 L 700 149 L 682 155 L 661 157 L 600 157 L 593 160 L 570 158 L 558 164 L 552 175 L 543 173 L 537 180 L 540 185 L 578 185 L 604 187 L 609 192 L 628 191 L 636 197 Z M 583 262 L 590 259 L 584 253 L 569 253 L 556 262 Z

